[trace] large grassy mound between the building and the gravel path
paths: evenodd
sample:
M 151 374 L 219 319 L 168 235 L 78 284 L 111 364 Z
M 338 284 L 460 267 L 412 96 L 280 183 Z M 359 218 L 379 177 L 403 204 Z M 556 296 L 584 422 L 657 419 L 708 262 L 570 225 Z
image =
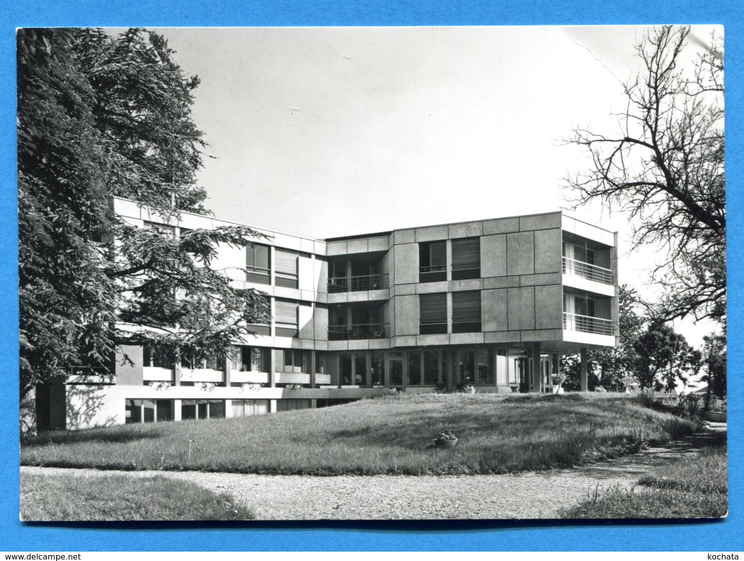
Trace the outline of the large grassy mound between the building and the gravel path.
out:
M 568 467 L 689 434 L 694 423 L 608 394 L 402 394 L 279 414 L 46 433 L 34 466 L 270 474 L 467 474 Z M 454 449 L 432 438 L 451 430 Z M 193 444 L 187 458 L 188 441 Z

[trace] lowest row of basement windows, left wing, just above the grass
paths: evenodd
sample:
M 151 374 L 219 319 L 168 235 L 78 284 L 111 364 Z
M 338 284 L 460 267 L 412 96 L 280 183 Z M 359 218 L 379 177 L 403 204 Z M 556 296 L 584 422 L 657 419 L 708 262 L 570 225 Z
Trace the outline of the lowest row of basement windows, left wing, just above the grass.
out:
M 310 408 L 310 400 L 277 400 L 277 411 Z M 173 400 L 126 400 L 125 423 L 161 423 L 174 419 Z M 269 400 L 231 400 L 232 417 L 269 412 Z M 224 419 L 225 400 L 181 400 L 181 419 Z

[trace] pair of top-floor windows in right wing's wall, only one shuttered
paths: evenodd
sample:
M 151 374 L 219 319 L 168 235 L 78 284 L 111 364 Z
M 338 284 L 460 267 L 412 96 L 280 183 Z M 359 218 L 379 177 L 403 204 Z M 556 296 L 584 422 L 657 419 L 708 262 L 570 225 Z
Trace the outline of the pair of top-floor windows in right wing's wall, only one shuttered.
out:
M 481 238 L 452 240 L 452 280 L 481 278 Z M 447 280 L 447 242 L 419 243 L 419 282 Z

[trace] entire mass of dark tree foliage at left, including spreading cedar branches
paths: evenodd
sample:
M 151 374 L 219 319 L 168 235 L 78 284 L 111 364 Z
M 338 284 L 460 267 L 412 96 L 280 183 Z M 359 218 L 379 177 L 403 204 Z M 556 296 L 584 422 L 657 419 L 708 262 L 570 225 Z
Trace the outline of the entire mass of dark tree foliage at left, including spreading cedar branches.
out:
M 268 321 L 265 295 L 211 268 L 250 228 L 136 228 L 111 196 L 163 221 L 205 209 L 196 186 L 199 83 L 167 42 L 133 29 L 18 33 L 21 396 L 72 365 L 110 366 L 122 344 L 196 359 Z

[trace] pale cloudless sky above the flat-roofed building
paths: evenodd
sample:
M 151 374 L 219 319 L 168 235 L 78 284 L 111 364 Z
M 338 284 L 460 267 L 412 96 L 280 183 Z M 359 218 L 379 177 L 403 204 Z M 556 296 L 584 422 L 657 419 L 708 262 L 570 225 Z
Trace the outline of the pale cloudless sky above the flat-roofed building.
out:
M 711 27 L 693 28 L 691 60 Z M 215 216 L 305 237 L 556 211 L 589 165 L 571 129 L 616 131 L 646 28 L 161 28 L 196 74 Z M 722 34 L 722 28 L 718 28 Z M 620 233 L 620 283 L 658 258 Z M 690 342 L 715 327 L 678 322 Z

